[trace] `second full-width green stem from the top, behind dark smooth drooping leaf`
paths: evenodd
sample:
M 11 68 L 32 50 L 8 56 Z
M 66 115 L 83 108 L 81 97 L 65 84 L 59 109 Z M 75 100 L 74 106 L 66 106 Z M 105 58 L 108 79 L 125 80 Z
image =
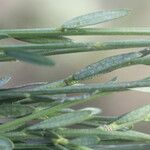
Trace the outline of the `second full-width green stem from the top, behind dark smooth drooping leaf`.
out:
M 102 51 L 112 49 L 150 47 L 150 40 L 120 40 L 109 42 L 93 42 L 93 43 L 52 43 L 52 44 L 26 44 L 26 45 L 10 45 L 0 46 L 0 61 L 15 60 L 5 54 L 5 50 L 27 50 L 40 55 L 58 55 L 66 53 Z

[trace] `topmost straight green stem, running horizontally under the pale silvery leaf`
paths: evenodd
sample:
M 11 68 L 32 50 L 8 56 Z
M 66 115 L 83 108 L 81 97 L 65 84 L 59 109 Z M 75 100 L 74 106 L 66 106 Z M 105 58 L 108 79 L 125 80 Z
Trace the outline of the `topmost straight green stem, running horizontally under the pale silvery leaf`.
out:
M 14 38 L 37 38 L 71 35 L 150 35 L 148 27 L 122 28 L 38 28 L 38 29 L 7 29 L 0 30 L 0 35 L 9 35 Z

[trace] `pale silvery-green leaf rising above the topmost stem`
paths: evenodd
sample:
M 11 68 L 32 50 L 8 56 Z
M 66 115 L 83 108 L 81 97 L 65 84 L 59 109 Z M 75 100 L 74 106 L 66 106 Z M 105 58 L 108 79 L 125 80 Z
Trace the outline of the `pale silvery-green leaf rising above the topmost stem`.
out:
M 111 11 L 97 11 L 90 14 L 75 17 L 65 22 L 63 28 L 79 28 L 95 25 L 102 22 L 111 21 L 116 18 L 123 17 L 129 13 L 127 9 L 116 9 Z

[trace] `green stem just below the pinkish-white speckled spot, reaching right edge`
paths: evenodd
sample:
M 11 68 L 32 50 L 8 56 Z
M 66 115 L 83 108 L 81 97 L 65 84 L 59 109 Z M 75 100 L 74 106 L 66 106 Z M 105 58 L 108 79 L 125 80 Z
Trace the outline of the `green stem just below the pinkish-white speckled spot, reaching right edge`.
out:
M 98 128 L 90 129 L 69 129 L 61 128 L 56 129 L 57 134 L 62 135 L 63 137 L 78 137 L 78 136 L 91 136 L 97 135 L 101 140 L 103 139 L 122 139 L 122 140 L 131 140 L 131 141 L 150 141 L 150 135 L 137 132 L 137 131 L 103 131 Z

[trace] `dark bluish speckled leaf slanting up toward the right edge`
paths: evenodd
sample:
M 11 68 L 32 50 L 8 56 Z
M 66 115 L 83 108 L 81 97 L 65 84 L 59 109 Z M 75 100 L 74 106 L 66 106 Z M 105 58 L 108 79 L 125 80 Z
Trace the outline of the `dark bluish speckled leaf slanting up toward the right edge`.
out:
M 84 80 L 95 75 L 105 74 L 132 65 L 131 62 L 143 57 L 142 51 L 111 56 L 93 63 L 73 74 L 73 80 Z

